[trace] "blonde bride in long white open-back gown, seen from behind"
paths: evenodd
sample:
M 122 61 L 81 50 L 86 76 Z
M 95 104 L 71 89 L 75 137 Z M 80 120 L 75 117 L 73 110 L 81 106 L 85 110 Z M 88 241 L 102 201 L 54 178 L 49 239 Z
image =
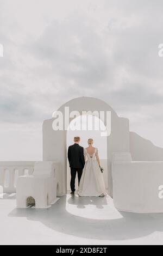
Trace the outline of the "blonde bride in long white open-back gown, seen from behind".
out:
M 86 163 L 80 180 L 78 195 L 80 197 L 104 197 L 106 191 L 98 149 L 92 147 L 93 139 L 89 139 L 88 144 L 89 147 L 84 149 Z

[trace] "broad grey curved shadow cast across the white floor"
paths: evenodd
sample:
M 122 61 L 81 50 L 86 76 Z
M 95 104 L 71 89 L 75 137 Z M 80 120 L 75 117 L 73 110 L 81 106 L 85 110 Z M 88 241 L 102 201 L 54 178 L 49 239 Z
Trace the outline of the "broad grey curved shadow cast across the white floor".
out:
M 120 218 L 111 219 L 108 212 L 108 219 L 95 219 L 96 211 L 102 214 L 99 209 L 109 207 L 107 205 L 108 198 L 64 196 L 49 209 L 14 209 L 9 216 L 40 221 L 55 231 L 86 239 L 127 240 L 147 236 L 154 231 L 163 231 L 163 214 L 131 214 L 117 211 Z M 77 216 L 67 211 L 68 208 L 72 208 L 72 210 L 81 210 L 81 214 L 82 211 L 90 214 L 90 208 L 93 206 L 95 206 L 93 208 L 95 216 L 92 215 L 92 218 Z M 115 209 L 114 211 L 116 212 Z

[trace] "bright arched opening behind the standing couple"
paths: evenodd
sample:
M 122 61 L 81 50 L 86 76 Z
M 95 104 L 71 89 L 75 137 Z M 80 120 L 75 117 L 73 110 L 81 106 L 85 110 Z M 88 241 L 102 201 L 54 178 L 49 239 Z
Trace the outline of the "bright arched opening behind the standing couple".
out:
M 104 181 L 106 190 L 108 190 L 108 161 L 107 161 L 107 137 L 102 136 L 102 132 L 106 127 L 101 119 L 95 115 L 80 115 L 74 118 L 67 130 L 66 147 L 72 145 L 74 136 L 79 136 L 81 139 L 80 145 L 87 147 L 87 140 L 92 138 L 94 141 L 93 147 L 98 148 L 101 166 L 104 169 Z M 71 171 L 67 159 L 67 193 L 70 193 Z M 78 189 L 78 177 L 76 176 L 76 190 Z

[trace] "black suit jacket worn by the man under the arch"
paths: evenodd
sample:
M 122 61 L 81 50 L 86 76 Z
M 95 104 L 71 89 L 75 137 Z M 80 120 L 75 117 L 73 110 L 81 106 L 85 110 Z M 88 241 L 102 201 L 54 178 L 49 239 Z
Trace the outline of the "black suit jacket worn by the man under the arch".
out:
M 70 146 L 68 148 L 68 161 L 71 168 L 83 169 L 85 165 L 84 148 L 77 143 Z

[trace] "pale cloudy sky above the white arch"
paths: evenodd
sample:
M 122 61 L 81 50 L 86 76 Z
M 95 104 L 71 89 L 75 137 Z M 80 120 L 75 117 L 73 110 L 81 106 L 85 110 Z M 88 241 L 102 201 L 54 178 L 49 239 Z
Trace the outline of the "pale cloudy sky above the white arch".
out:
M 163 147 L 162 0 L 0 0 L 0 160 L 39 160 L 41 125 L 98 97 Z

